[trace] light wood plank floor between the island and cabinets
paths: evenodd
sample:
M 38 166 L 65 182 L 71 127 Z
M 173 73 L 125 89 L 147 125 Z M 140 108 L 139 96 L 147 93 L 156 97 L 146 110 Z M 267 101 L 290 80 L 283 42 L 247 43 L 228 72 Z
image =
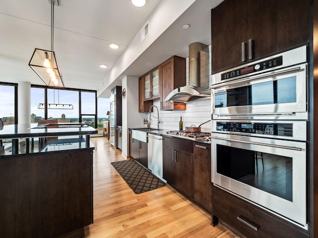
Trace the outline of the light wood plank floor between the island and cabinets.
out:
M 235 238 L 169 186 L 135 194 L 110 162 L 124 160 L 106 137 L 93 137 L 94 224 L 85 238 Z

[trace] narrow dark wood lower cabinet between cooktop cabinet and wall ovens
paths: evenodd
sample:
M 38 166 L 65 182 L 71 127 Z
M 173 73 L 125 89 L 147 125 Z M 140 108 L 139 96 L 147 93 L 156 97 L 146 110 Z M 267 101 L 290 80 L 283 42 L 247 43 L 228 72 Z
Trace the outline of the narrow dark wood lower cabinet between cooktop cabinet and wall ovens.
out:
M 194 201 L 212 214 L 211 145 L 193 143 Z

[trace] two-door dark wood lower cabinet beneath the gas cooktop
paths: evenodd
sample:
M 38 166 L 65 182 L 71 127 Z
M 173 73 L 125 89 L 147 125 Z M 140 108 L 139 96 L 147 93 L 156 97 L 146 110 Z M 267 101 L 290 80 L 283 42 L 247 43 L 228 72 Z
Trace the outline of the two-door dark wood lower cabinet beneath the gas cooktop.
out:
M 193 200 L 193 142 L 163 137 L 163 179 Z

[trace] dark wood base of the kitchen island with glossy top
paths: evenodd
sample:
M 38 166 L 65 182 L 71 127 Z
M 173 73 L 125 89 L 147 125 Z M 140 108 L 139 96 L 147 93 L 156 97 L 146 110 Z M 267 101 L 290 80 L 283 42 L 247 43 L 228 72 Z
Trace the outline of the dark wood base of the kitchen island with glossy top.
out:
M 1 158 L 1 237 L 80 235 L 93 219 L 92 149 Z

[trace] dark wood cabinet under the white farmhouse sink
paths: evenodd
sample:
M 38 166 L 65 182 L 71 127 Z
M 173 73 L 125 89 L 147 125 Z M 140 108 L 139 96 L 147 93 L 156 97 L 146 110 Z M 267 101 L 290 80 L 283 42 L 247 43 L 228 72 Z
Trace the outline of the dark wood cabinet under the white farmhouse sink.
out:
M 147 146 L 147 143 L 134 139 L 131 131 L 129 132 L 129 155 L 146 168 L 148 167 Z

